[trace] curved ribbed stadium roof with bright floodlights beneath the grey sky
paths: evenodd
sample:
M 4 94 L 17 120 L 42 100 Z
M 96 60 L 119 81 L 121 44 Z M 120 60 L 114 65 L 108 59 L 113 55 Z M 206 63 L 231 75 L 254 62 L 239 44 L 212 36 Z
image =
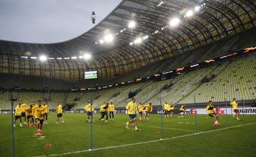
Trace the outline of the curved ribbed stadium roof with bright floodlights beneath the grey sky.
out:
M 173 18 L 181 21 L 176 27 L 171 27 Z M 252 0 L 124 0 L 90 31 L 62 43 L 1 40 L 0 60 L 6 68 L 1 72 L 42 75 L 36 70 L 48 68 L 43 75 L 80 80 L 84 71 L 97 70 L 100 78 L 110 79 L 253 28 L 255 19 L 256 1 Z M 130 21 L 135 21 L 134 28 L 128 27 Z M 107 34 L 112 34 L 110 43 L 104 39 Z M 71 59 L 84 53 L 90 53 L 92 60 Z M 51 60 L 41 63 L 31 58 L 40 55 Z M 14 70 L 16 65 L 23 70 Z M 60 75 L 53 76 L 55 72 Z

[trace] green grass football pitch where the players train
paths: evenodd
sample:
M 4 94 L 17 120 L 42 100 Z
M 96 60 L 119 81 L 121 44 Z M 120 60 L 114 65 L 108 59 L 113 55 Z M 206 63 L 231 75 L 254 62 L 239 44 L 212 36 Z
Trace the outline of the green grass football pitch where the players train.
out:
M 150 120 L 138 121 L 141 131 L 125 129 L 127 114 L 114 114 L 114 121 L 105 124 L 94 115 L 93 148 L 90 149 L 90 124 L 86 114 L 63 114 L 65 124 L 54 124 L 56 114 L 49 115 L 49 124 L 43 125 L 44 139 L 34 137 L 36 129 L 16 123 L 16 156 L 255 156 L 256 115 L 245 115 L 245 125 L 228 115 L 220 116 L 220 126 L 207 115 L 198 115 L 198 131 L 195 115 L 163 117 L 164 139 L 161 139 L 161 116 L 151 115 Z M 138 115 L 137 115 L 138 117 Z M 11 114 L 0 114 L 0 156 L 12 156 Z M 238 126 L 238 127 L 233 127 Z M 130 126 L 133 127 L 132 125 Z M 213 131 L 215 130 L 215 131 Z M 203 132 L 206 131 L 206 132 Z M 179 137 L 179 138 L 174 138 Z M 169 139 L 168 139 L 169 138 Z M 46 147 L 51 144 L 51 147 Z M 132 144 L 127 146 L 127 144 Z M 116 148 L 110 146 L 117 146 Z M 107 148 L 110 147 L 110 148 Z M 103 148 L 99 150 L 99 148 Z M 77 153 L 74 153 L 78 151 Z M 69 153 L 69 154 L 62 154 Z

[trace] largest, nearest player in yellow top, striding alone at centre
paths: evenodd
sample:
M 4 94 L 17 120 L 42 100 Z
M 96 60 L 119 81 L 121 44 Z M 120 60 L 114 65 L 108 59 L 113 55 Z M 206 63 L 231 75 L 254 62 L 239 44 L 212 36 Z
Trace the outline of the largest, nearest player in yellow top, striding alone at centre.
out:
M 128 125 L 131 123 L 134 123 L 135 126 L 135 131 L 139 131 L 139 129 L 137 128 L 137 116 L 136 116 L 136 112 L 137 112 L 137 104 L 135 102 L 135 98 L 132 98 L 132 102 L 129 102 L 127 104 L 127 106 L 125 107 L 128 110 L 128 114 L 129 114 L 129 118 L 130 120 L 127 121 L 127 126 L 126 128 L 129 129 Z

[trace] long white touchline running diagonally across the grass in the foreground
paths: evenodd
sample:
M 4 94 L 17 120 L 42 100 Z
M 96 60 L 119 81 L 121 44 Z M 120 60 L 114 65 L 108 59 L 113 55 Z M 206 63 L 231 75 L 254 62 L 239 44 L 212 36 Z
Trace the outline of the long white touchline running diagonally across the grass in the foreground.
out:
M 198 134 L 206 134 L 206 133 L 210 133 L 210 132 L 232 129 L 232 128 L 237 128 L 237 127 L 240 127 L 240 126 L 247 126 L 247 125 L 252 125 L 252 124 L 256 124 L 256 122 L 255 123 L 244 124 L 244 125 L 230 126 L 230 127 L 225 127 L 225 128 L 215 129 L 215 130 L 210 130 L 210 131 L 201 131 Z M 110 149 L 110 148 L 122 148 L 122 147 L 126 147 L 126 146 L 135 146 L 135 145 L 140 145 L 140 144 L 149 144 L 149 143 L 158 142 L 158 141 L 166 141 L 166 140 L 178 139 L 178 138 L 183 138 L 183 137 L 186 137 L 186 136 L 195 136 L 195 135 L 196 135 L 196 133 L 186 134 L 186 135 L 181 135 L 181 136 L 175 136 L 175 137 L 170 137 L 170 138 L 166 138 L 166 139 L 156 139 L 156 140 L 151 140 L 151 141 L 138 142 L 138 143 L 134 143 L 134 144 L 123 144 L 123 145 L 119 145 L 119 146 L 108 146 L 108 147 L 104 147 L 104 148 L 95 148 L 95 149 L 93 149 L 93 151 L 105 150 L 105 149 Z M 68 152 L 68 153 L 55 153 L 55 154 L 50 154 L 48 156 L 65 156 L 65 155 L 69 155 L 69 154 L 84 153 L 84 152 L 88 152 L 88 151 L 90 151 L 90 150 L 87 149 L 87 150 L 83 150 L 83 151 L 74 151 L 74 152 Z M 48 157 L 48 156 L 35 156 L 35 157 Z

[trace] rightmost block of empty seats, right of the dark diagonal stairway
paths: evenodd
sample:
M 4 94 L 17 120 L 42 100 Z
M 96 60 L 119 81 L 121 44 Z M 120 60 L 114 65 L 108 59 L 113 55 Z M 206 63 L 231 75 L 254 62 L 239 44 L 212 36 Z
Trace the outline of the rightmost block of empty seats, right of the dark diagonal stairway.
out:
M 196 102 L 207 102 L 212 99 L 215 102 L 229 101 L 233 97 L 237 99 L 256 98 L 256 57 L 234 60 L 216 74 L 210 82 L 203 83 L 191 92 L 181 103 L 192 103 L 193 97 Z

